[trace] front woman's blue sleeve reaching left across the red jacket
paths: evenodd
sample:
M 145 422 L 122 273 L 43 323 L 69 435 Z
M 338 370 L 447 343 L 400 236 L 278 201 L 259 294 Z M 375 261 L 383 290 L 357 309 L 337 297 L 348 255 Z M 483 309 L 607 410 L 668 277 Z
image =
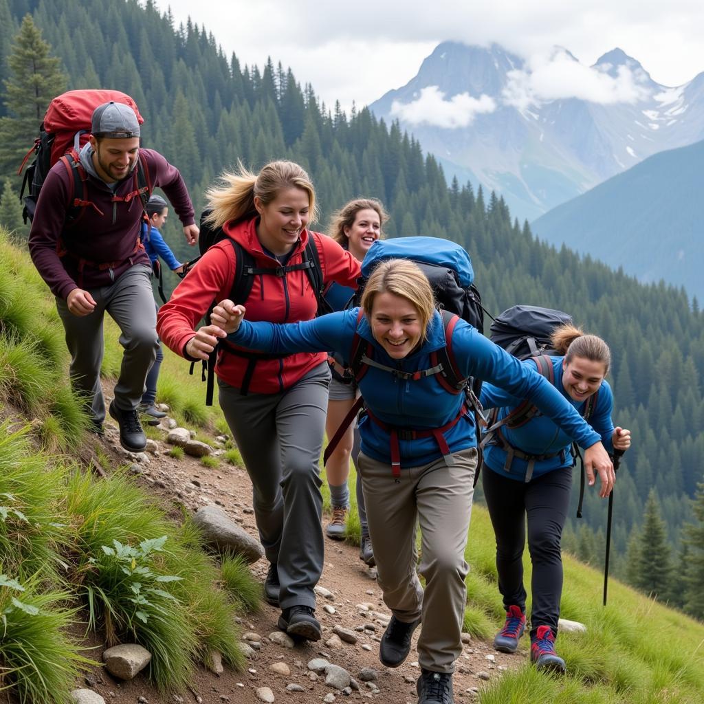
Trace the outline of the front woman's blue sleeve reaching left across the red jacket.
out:
M 358 308 L 279 325 L 242 320 L 227 339 L 239 347 L 272 353 L 339 352 L 347 361 L 357 327 Z

